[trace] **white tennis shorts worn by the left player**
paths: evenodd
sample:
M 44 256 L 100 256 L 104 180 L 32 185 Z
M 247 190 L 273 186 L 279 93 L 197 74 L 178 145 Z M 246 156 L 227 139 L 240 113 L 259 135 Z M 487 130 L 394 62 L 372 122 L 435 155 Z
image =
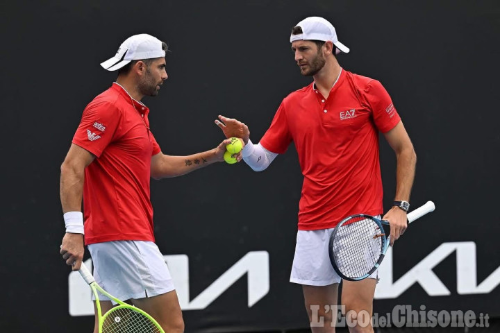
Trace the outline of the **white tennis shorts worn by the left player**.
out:
M 119 300 L 157 296 L 175 289 L 165 259 L 152 241 L 106 241 L 90 244 L 88 249 L 97 284 Z M 99 293 L 99 300 L 109 298 Z

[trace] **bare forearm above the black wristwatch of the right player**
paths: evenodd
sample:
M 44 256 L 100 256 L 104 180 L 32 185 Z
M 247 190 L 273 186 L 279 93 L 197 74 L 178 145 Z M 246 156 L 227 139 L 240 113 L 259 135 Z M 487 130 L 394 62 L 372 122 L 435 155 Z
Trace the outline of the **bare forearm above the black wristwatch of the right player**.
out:
M 417 155 L 413 146 L 397 153 L 396 194 L 394 200 L 410 200 L 410 193 L 415 179 Z

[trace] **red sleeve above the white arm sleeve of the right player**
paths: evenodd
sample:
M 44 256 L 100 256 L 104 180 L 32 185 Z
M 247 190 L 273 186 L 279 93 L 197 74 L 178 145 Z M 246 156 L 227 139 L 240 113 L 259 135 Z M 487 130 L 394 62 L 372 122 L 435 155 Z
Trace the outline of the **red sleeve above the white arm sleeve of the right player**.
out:
M 274 114 L 271 126 L 267 129 L 260 144 L 272 153 L 283 154 L 292 142 L 292 135 L 288 128 L 285 112 L 285 101 L 281 102 L 278 111 Z

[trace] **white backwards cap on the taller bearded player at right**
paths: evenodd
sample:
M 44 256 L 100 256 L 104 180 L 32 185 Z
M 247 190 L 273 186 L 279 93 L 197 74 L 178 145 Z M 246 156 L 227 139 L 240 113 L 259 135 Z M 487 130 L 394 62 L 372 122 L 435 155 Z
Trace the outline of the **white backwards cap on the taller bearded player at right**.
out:
M 340 52 L 349 53 L 349 47 L 338 41 L 335 28 L 323 17 L 307 17 L 297 23 L 296 26 L 302 28 L 302 33 L 299 35 L 290 35 L 290 43 L 295 40 L 322 40 L 324 42 L 330 40 L 337 48 L 335 54 Z

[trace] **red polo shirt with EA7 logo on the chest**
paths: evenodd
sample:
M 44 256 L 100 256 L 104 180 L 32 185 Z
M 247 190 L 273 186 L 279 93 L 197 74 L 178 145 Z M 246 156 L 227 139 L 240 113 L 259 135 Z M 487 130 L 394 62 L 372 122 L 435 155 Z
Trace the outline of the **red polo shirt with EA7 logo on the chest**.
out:
M 383 213 L 378 131 L 400 120 L 380 82 L 343 69 L 328 99 L 314 83 L 283 99 L 260 144 L 274 153 L 290 142 L 297 148 L 304 176 L 299 230 Z

